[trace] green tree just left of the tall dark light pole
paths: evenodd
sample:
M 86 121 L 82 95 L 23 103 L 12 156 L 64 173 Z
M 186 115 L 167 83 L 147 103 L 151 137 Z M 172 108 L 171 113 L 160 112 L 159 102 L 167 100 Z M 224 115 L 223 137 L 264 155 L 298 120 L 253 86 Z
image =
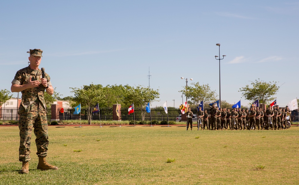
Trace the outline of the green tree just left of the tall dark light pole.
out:
M 193 86 L 191 86 L 193 85 Z M 202 100 L 204 103 L 210 102 L 216 99 L 216 91 L 210 89 L 209 84 L 200 85 L 199 82 L 191 83 L 190 86 L 187 86 L 187 98 L 191 98 L 188 103 L 198 105 Z M 183 86 L 184 89 L 179 91 L 186 96 L 186 86 Z

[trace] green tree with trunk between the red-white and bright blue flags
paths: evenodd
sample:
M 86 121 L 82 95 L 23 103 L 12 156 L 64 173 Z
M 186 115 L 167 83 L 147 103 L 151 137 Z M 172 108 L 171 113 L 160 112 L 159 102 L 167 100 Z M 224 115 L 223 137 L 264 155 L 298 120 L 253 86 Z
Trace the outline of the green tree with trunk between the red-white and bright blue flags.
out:
M 127 92 L 124 105 L 129 106 L 134 103 L 136 108 L 140 108 L 142 110 L 141 116 L 142 120 L 144 120 L 147 103 L 153 102 L 159 98 L 160 93 L 158 92 L 158 89 L 154 90 L 149 87 L 141 87 L 141 85 L 138 85 L 136 88 L 131 86 L 126 86 L 126 88 Z

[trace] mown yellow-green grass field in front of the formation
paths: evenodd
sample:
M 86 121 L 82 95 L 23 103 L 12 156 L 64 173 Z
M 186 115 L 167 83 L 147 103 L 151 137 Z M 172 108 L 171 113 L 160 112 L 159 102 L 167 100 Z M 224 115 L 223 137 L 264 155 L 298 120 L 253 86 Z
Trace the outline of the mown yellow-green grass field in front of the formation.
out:
M 47 160 L 59 170 L 36 170 L 33 134 L 29 174 L 19 174 L 19 128 L 0 126 L 0 184 L 299 184 L 297 126 L 281 131 L 185 129 L 49 126 Z

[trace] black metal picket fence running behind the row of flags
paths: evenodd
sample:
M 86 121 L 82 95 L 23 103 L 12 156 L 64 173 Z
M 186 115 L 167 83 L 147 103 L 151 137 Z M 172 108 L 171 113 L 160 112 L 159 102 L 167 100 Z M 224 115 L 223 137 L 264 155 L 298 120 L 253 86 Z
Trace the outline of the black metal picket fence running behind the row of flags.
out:
M 75 108 L 72 107 L 65 107 L 64 113 L 59 112 L 59 120 L 79 120 L 80 114 L 73 114 L 75 111 Z M 60 108 L 57 109 L 59 111 Z M 47 114 L 47 119 L 50 121 L 51 120 L 51 107 L 47 108 L 48 114 Z M 92 114 L 92 120 L 105 120 L 105 121 L 110 121 L 112 120 L 112 108 L 99 108 L 99 113 Z M 191 108 L 191 111 L 195 115 L 193 118 L 193 121 L 196 121 L 196 115 L 197 115 L 197 109 L 196 108 Z M 135 108 L 134 113 L 135 113 L 135 120 L 136 121 L 141 121 L 142 120 L 142 110 Z M 121 113 L 121 120 L 123 121 L 131 121 L 134 120 L 134 114 L 128 114 L 128 109 L 127 108 L 121 108 L 120 109 Z M 161 107 L 154 107 L 151 108 L 151 117 L 152 120 L 157 120 L 157 121 L 167 121 L 167 114 L 165 113 L 164 109 Z M 293 122 L 298 122 L 299 121 L 299 116 L 298 116 L 298 109 L 293 110 L 291 114 L 291 118 Z M 1 120 L 19 120 L 19 115 L 18 115 L 18 109 L 17 107 L 1 107 L 0 108 L 0 119 Z M 87 120 L 87 109 L 81 108 L 81 120 Z M 144 117 L 145 121 L 150 120 L 150 114 L 145 113 Z M 181 111 L 179 108 L 173 108 L 170 107 L 168 109 L 168 120 L 169 121 L 179 121 L 181 120 Z

